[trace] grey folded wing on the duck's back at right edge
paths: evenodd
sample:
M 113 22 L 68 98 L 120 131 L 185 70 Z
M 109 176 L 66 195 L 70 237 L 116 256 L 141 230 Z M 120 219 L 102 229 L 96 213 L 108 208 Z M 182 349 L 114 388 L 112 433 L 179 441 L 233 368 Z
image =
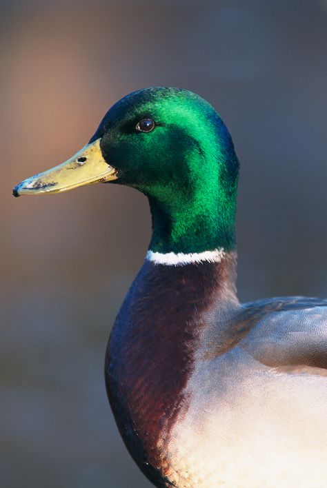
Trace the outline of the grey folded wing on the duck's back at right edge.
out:
M 280 372 L 327 376 L 327 300 L 270 298 L 243 305 L 238 346 Z

